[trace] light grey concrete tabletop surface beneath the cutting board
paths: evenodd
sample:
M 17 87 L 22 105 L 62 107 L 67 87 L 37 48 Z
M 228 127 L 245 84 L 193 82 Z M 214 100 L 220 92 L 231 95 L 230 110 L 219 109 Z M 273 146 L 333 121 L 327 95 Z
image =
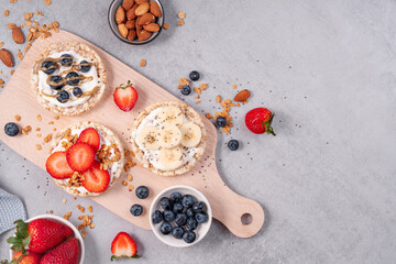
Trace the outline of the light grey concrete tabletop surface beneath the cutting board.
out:
M 218 94 L 231 98 L 233 84 L 250 89 L 251 101 L 232 111 L 237 129 L 219 136 L 217 162 L 232 189 L 261 202 L 266 222 L 254 238 L 238 239 L 215 221 L 196 246 L 173 249 L 94 205 L 86 263 L 110 263 L 110 243 L 121 230 L 133 234 L 143 258 L 120 263 L 395 263 L 395 1 L 164 0 L 170 29 L 145 46 L 116 38 L 109 4 L 2 0 L 1 13 L 11 15 L 0 15 L 0 41 L 15 52 L 4 24 L 38 10 L 40 21 L 59 21 L 179 98 L 178 78 L 199 70 L 210 88 L 198 106 L 186 98 L 199 111 L 215 111 Z M 182 28 L 175 26 L 178 11 L 187 13 Z M 245 112 L 261 106 L 276 112 L 276 138 L 243 124 Z M 240 151 L 226 147 L 230 139 L 241 141 Z M 63 205 L 67 196 L 45 173 L 4 144 L 0 164 L 0 185 L 22 197 L 29 216 L 92 204 Z M 2 258 L 10 234 L 0 235 Z

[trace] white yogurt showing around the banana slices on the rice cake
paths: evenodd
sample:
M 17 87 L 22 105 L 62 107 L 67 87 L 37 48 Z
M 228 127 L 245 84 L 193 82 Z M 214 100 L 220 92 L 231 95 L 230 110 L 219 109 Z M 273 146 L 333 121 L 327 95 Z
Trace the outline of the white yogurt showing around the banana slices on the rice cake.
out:
M 141 144 L 136 139 L 138 135 L 140 134 L 140 132 L 142 131 L 143 128 L 145 127 L 155 127 L 155 128 L 160 128 L 162 127 L 162 122 L 161 120 L 157 118 L 158 113 L 162 111 L 164 107 L 160 107 L 154 109 L 152 112 L 150 112 L 139 124 L 138 129 L 132 131 L 132 138 L 134 139 L 134 141 L 136 142 L 140 150 L 143 151 L 144 153 L 144 160 L 148 161 L 155 168 L 161 169 L 161 170 L 172 170 L 167 167 L 164 166 L 164 164 L 162 164 L 160 162 L 158 155 L 160 155 L 160 150 L 147 150 L 143 144 Z M 187 118 L 185 114 L 183 116 L 183 123 L 190 123 L 194 122 L 194 120 L 191 118 Z M 183 156 L 182 156 L 182 165 L 185 165 L 186 163 L 190 162 L 194 158 L 194 155 L 198 153 L 199 147 L 182 147 L 183 151 Z

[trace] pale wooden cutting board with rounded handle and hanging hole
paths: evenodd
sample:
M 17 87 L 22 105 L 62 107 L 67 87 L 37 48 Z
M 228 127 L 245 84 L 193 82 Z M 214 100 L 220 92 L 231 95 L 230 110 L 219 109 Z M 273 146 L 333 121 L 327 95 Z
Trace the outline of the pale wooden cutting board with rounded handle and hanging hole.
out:
M 42 50 L 53 42 L 76 41 L 91 46 L 102 58 L 108 77 L 108 86 L 101 101 L 89 112 L 78 117 L 61 117 L 54 119 L 54 114 L 46 111 L 36 101 L 30 88 L 30 74 L 35 57 Z M 131 46 L 133 48 L 133 46 Z M 119 84 L 125 84 L 130 79 L 139 92 L 139 100 L 134 109 L 130 112 L 123 112 L 117 108 L 113 102 L 112 92 Z M 138 113 L 145 107 L 162 100 L 178 100 L 176 97 L 142 76 L 131 67 L 118 61 L 110 54 L 92 45 L 86 40 L 66 31 L 54 33 L 53 36 L 45 40 L 36 40 L 30 48 L 20 66 L 13 74 L 7 87 L 0 94 L 0 127 L 3 128 L 7 122 L 14 120 L 14 114 L 22 117 L 18 122 L 22 128 L 31 125 L 33 128 L 29 135 L 7 136 L 0 131 L 0 140 L 12 147 L 15 152 L 45 169 L 45 161 L 48 156 L 48 145 L 43 144 L 43 139 L 48 133 L 55 134 L 57 131 L 78 121 L 96 121 L 111 128 L 122 140 L 125 148 L 130 147 L 130 128 Z M 38 121 L 36 116 L 42 116 Z M 140 165 L 132 167 L 130 174 L 133 176 L 131 183 L 134 187 L 144 185 L 150 189 L 150 196 L 145 200 L 138 199 L 134 191 L 129 191 L 128 187 L 122 186 L 122 179 L 125 179 L 127 173 L 123 173 L 119 182 L 103 195 L 91 198 L 96 202 L 106 207 L 116 215 L 124 218 L 144 229 L 150 229 L 148 209 L 153 198 L 162 189 L 174 185 L 188 185 L 200 190 L 209 200 L 213 217 L 222 222 L 233 234 L 240 238 L 250 238 L 256 234 L 264 223 L 264 210 L 258 202 L 242 197 L 226 186 L 216 167 L 216 146 L 217 130 L 215 125 L 202 117 L 208 131 L 208 142 L 206 152 L 196 167 L 187 174 L 176 177 L 163 177 L 151 173 Z M 54 124 L 51 124 L 54 121 Z M 36 128 L 41 128 L 42 138 L 37 138 Z M 43 150 L 36 150 L 35 145 L 42 144 Z M 43 172 L 43 177 L 48 176 Z M 50 176 L 48 176 L 50 177 Z M 130 184 L 130 183 L 129 183 Z M 53 183 L 53 191 L 61 189 Z M 65 193 L 66 195 L 66 193 Z M 133 204 L 143 206 L 143 215 L 133 217 L 130 208 Z M 251 222 L 246 224 L 243 219 Z

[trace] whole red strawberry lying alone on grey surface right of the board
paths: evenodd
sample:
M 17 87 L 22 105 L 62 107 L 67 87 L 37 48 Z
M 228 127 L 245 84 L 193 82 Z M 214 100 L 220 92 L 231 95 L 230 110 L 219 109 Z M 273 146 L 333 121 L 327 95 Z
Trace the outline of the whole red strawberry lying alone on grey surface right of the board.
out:
M 245 117 L 246 128 L 255 134 L 267 134 L 276 135 L 271 123 L 275 113 L 272 113 L 266 108 L 255 108 L 250 110 Z

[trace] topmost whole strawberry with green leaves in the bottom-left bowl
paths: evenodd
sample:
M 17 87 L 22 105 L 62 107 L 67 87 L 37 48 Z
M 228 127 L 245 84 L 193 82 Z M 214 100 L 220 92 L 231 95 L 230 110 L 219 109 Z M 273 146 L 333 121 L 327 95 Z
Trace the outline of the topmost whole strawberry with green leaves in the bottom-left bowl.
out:
M 16 220 L 15 237 L 7 240 L 12 244 L 11 250 L 26 252 L 25 248 L 34 253 L 43 253 L 54 249 L 73 234 L 73 230 L 64 223 L 51 219 L 36 219 L 26 223 Z

